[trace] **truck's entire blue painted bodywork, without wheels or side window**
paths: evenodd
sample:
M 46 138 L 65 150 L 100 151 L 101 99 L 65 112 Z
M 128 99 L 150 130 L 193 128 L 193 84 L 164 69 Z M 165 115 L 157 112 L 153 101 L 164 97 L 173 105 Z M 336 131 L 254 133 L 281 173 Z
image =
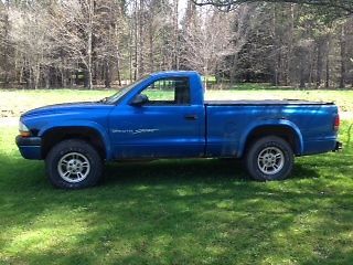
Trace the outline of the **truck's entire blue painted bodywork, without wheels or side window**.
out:
M 188 77 L 191 104 L 131 106 L 132 98 L 154 81 Z M 207 104 L 196 72 L 151 74 L 115 104 L 76 103 L 30 110 L 21 121 L 38 137 L 56 128 L 96 130 L 106 147 L 106 159 L 242 157 L 248 136 L 261 127 L 285 127 L 296 135 L 296 155 L 333 150 L 338 107 L 332 104 L 234 103 Z M 196 119 L 185 119 L 194 115 Z M 20 146 L 23 157 L 42 159 L 40 147 Z

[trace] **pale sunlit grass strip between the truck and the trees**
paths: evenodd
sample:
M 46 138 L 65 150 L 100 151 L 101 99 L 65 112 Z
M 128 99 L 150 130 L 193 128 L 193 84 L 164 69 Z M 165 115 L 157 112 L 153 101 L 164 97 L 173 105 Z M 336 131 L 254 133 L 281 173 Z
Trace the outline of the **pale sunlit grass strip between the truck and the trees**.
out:
M 98 100 L 113 95 L 116 89 L 101 91 L 0 91 L 0 117 L 17 117 L 21 113 L 47 104 Z M 158 93 L 157 93 L 158 94 Z M 308 100 L 335 102 L 341 112 L 350 112 L 353 116 L 353 91 L 293 91 L 290 88 L 243 84 L 226 91 L 207 91 L 206 99 L 265 99 L 292 98 Z

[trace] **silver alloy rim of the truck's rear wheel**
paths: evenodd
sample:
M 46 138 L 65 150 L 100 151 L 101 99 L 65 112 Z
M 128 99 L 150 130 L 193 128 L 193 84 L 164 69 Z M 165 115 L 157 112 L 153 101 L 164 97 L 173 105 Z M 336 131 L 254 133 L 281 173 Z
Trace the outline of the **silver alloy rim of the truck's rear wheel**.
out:
M 285 155 L 277 147 L 267 147 L 258 155 L 257 166 L 265 174 L 276 174 L 285 166 Z

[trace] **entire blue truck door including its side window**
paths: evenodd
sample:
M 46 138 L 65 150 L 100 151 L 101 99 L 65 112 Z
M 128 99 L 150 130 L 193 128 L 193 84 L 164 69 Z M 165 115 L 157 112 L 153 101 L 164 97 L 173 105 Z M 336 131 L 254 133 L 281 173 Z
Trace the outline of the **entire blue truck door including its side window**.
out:
M 154 81 L 140 95 L 110 115 L 115 158 L 200 157 L 204 155 L 204 107 L 191 102 L 189 77 Z

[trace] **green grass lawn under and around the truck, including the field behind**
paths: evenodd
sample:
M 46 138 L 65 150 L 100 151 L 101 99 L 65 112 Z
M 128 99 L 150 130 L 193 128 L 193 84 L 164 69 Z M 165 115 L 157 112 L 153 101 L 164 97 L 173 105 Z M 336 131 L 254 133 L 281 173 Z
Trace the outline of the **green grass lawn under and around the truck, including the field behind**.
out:
M 238 93 L 265 94 L 226 92 Z M 0 106 L 107 94 L 0 92 Z M 287 94 L 352 112 L 352 92 Z M 42 161 L 20 157 L 17 128 L 0 127 L 0 264 L 353 264 L 352 123 L 342 152 L 298 158 L 286 181 L 250 181 L 232 160 L 161 160 L 107 165 L 103 184 L 82 191 L 53 189 Z

